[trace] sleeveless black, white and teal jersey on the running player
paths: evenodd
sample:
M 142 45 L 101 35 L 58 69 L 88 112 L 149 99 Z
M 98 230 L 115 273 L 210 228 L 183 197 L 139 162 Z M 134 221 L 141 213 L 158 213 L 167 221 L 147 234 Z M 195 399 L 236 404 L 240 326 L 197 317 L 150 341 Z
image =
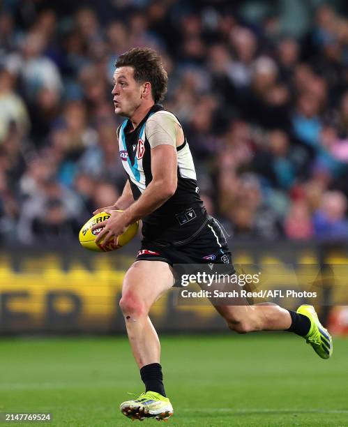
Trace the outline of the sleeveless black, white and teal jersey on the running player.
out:
M 118 129 L 119 153 L 135 200 L 152 181 L 151 147 L 146 137 L 145 125 L 147 119 L 158 111 L 165 110 L 162 105 L 153 105 L 135 130 L 129 119 L 123 121 Z M 172 114 L 167 111 L 165 113 Z M 142 218 L 144 241 L 156 241 L 163 245 L 186 244 L 197 236 L 207 221 L 206 210 L 199 197 L 195 165 L 185 134 L 184 142 L 180 147 L 176 147 L 176 152 L 176 191 L 156 211 Z

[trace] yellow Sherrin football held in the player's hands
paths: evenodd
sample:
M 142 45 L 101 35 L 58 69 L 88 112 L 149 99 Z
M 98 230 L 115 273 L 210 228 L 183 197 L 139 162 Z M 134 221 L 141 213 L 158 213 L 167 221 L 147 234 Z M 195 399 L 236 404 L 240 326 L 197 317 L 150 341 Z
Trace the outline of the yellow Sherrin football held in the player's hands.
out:
M 118 211 L 122 212 L 122 211 Z M 94 252 L 109 252 L 110 250 L 119 249 L 122 246 L 125 246 L 128 244 L 128 241 L 132 240 L 133 237 L 135 237 L 135 234 L 137 234 L 137 230 L 139 227 L 139 223 L 133 223 L 129 225 L 127 230 L 119 236 L 118 245 L 115 246 L 114 244 L 114 237 L 111 237 L 104 248 L 100 246 L 100 243 L 96 244 L 96 237 L 98 234 L 103 230 L 103 227 L 97 228 L 96 230 L 91 230 L 93 225 L 96 225 L 98 223 L 103 223 L 103 221 L 108 220 L 110 218 L 110 214 L 106 212 L 100 212 L 96 215 L 92 216 L 90 220 L 84 224 L 82 229 L 79 233 L 79 239 L 80 244 L 86 249 L 94 250 Z

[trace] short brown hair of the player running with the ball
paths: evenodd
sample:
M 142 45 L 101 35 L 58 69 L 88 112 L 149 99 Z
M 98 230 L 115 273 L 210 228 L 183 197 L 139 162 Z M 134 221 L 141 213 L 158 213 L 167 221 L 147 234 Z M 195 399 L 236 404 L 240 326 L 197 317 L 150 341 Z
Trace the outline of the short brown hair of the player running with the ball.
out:
M 115 63 L 115 67 L 133 67 L 136 82 L 150 82 L 155 103 L 159 103 L 165 98 L 168 76 L 156 50 L 149 47 L 133 47 L 133 49 L 121 54 Z

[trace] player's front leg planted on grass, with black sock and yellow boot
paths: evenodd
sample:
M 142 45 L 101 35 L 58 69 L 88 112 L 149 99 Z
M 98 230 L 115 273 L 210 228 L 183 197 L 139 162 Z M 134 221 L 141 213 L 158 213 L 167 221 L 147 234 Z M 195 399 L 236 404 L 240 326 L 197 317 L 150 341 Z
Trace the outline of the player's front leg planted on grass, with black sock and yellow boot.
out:
M 121 412 L 131 419 L 166 420 L 173 413 L 162 382 L 160 340 L 149 317 L 151 306 L 173 283 L 169 265 L 161 261 L 137 261 L 123 280 L 120 307 L 133 355 L 146 386 L 146 392 L 139 398 L 121 403 Z

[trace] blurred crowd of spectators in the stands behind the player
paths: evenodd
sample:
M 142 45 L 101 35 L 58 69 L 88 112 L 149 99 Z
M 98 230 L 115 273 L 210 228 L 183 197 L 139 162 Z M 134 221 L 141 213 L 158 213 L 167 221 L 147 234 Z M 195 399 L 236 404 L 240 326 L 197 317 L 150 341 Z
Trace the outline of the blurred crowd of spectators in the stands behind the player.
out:
M 289 25 L 282 1 L 72 3 L 3 1 L 2 241 L 76 240 L 116 200 L 126 177 L 112 74 L 134 46 L 162 54 L 165 107 L 186 131 L 206 208 L 233 237 L 348 237 L 342 7 L 288 1 Z

